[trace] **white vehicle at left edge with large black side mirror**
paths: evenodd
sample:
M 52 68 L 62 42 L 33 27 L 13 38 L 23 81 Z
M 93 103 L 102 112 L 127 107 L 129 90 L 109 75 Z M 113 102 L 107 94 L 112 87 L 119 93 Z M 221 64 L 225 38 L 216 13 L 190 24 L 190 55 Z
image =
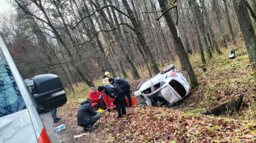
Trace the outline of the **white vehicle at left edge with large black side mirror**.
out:
M 0 142 L 50 142 L 38 105 L 55 109 L 67 102 L 67 96 L 57 75 L 37 75 L 33 83 L 34 95 L 0 36 Z

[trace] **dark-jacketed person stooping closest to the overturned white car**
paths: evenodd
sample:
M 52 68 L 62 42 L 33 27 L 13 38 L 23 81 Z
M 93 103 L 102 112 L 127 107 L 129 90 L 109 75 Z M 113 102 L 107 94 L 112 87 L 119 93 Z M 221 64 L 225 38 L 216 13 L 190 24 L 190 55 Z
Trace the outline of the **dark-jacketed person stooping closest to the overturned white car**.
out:
M 131 105 L 131 86 L 129 85 L 129 83 L 127 81 L 125 81 L 125 79 L 122 79 L 120 77 L 109 78 L 108 82 L 111 85 L 119 86 L 123 90 L 123 94 L 126 95 L 129 100 L 129 107 L 132 107 L 132 105 Z M 125 107 L 127 107 L 126 99 L 123 100 L 123 103 L 125 104 Z

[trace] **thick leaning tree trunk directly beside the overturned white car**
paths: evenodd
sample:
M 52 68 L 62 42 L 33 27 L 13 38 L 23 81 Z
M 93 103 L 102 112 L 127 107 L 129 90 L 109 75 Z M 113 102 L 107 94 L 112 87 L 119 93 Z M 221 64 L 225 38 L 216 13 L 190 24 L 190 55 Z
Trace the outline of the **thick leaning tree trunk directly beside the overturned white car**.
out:
M 167 6 L 165 3 L 165 0 L 158 0 L 159 5 L 161 7 L 161 11 L 164 12 L 167 10 Z M 180 37 L 178 37 L 178 33 L 176 31 L 176 27 L 174 25 L 174 22 L 171 19 L 171 16 L 168 12 L 165 13 L 165 19 L 167 21 L 168 27 L 170 29 L 170 32 L 172 32 L 172 36 L 174 38 L 174 41 L 176 42 L 176 51 L 180 60 L 180 64 L 182 66 L 183 71 L 187 71 L 189 73 L 190 81 L 192 86 L 198 86 L 199 83 L 197 81 L 197 76 L 195 75 L 195 72 L 189 62 L 189 59 L 185 53 L 184 46 L 182 45 L 182 41 L 180 40 Z

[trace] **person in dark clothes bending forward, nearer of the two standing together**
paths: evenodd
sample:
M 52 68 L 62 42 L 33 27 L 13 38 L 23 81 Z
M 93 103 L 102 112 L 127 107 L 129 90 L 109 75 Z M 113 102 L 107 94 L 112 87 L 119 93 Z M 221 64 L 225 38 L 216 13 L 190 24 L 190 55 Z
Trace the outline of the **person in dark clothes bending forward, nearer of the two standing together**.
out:
M 126 114 L 125 105 L 123 105 L 123 90 L 121 90 L 121 88 L 106 84 L 104 86 L 99 86 L 98 91 L 102 94 L 105 93 L 106 96 L 110 98 L 114 98 L 113 104 L 116 105 L 116 109 L 118 110 L 118 118 L 121 118 L 122 114 Z

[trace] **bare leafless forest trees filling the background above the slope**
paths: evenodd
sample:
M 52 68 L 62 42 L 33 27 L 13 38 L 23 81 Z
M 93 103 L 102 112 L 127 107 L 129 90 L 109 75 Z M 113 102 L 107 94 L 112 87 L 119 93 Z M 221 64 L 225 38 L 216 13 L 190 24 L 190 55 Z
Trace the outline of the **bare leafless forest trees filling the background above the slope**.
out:
M 93 86 L 105 71 L 140 79 L 139 71 L 152 77 L 180 61 L 197 86 L 188 57 L 200 55 L 206 64 L 238 36 L 255 62 L 250 2 L 15 0 L 16 12 L 2 14 L 0 32 L 24 78 L 56 73 L 73 91 L 73 83 Z

